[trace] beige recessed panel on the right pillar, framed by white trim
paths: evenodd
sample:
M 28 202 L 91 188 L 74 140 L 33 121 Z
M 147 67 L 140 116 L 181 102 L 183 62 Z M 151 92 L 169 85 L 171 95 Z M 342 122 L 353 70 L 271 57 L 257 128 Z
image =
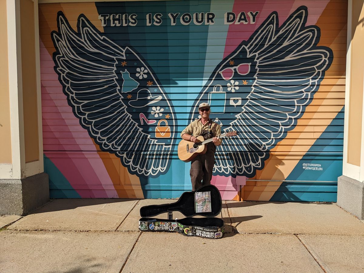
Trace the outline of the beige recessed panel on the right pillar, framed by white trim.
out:
M 364 0 L 353 1 L 351 40 L 351 79 L 349 98 L 348 158 L 347 162 L 360 166 L 361 124 L 363 118 L 364 75 Z

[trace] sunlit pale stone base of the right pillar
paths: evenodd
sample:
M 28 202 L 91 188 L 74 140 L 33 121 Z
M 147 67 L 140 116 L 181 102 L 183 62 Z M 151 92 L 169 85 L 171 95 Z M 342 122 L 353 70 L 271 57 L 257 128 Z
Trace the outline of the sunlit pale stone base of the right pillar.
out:
M 337 205 L 364 219 L 364 183 L 341 175 L 337 179 Z

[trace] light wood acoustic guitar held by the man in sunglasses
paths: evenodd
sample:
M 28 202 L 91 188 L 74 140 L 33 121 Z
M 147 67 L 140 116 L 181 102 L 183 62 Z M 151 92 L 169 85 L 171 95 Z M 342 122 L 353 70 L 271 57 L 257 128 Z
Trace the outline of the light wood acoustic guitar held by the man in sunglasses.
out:
M 237 135 L 236 131 L 226 132 L 219 135 L 217 138 L 233 137 Z M 202 135 L 199 135 L 197 139 L 201 142 L 192 142 L 182 139 L 178 144 L 178 158 L 184 162 L 190 162 L 199 154 L 205 154 L 207 151 L 207 143 L 212 142 L 212 138 L 203 139 Z

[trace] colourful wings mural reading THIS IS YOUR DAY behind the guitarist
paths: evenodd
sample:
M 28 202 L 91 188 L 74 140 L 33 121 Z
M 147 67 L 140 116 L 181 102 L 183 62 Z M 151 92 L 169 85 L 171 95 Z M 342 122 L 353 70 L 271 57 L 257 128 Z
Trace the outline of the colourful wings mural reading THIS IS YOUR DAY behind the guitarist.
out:
M 215 155 L 223 199 L 243 185 L 245 199 L 335 201 L 346 7 L 296 2 L 39 5 L 51 196 L 178 197 L 191 188 L 179 133 L 208 102 L 240 133 Z M 345 20 L 328 31 L 333 8 Z

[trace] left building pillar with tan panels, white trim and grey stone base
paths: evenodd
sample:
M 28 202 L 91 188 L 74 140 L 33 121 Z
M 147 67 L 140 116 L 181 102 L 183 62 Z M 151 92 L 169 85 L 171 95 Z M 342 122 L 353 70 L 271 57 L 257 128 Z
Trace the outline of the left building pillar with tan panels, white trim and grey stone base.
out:
M 49 200 L 43 167 L 37 0 L 0 2 L 0 214 Z M 5 84 L 4 84 L 5 83 Z

